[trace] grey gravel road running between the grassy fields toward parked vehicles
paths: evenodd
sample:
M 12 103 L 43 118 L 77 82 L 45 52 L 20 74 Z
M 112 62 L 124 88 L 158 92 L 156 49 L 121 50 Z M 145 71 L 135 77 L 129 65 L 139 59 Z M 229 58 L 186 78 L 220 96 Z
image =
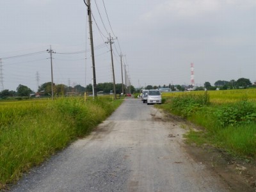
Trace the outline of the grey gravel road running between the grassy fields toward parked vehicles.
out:
M 186 154 L 186 130 L 126 99 L 92 134 L 25 175 L 10 191 L 228 191 Z

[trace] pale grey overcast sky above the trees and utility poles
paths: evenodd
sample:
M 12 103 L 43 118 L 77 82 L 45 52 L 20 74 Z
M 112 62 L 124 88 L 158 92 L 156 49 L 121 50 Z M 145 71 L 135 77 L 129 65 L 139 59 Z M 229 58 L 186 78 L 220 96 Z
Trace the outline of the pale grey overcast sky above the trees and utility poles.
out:
M 97 83 L 115 82 L 121 59 L 134 87 L 256 81 L 255 0 L 91 0 Z M 92 57 L 83 0 L 0 1 L 0 90 L 19 84 L 86 86 Z M 124 73 L 124 72 L 123 72 Z

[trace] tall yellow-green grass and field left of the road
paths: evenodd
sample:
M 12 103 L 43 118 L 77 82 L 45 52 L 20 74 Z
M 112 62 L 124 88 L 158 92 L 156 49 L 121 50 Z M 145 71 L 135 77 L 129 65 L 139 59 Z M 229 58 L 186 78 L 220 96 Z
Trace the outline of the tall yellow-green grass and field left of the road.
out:
M 118 108 L 111 97 L 0 102 L 0 190 Z

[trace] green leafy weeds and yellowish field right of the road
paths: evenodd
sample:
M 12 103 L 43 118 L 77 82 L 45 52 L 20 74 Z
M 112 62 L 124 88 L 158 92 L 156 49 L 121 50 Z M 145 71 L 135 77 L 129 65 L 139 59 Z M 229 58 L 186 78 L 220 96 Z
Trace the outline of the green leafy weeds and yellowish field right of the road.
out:
M 188 142 L 209 143 L 233 156 L 256 158 L 256 90 L 163 93 L 158 106 L 182 116 L 202 130 L 191 129 Z

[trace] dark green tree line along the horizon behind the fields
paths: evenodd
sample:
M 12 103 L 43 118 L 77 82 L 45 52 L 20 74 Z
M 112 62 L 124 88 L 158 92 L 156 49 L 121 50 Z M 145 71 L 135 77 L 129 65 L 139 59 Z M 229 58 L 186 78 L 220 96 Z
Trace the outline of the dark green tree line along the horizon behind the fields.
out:
M 256 82 L 253 83 L 254 85 Z M 227 90 L 227 89 L 237 89 L 237 88 L 248 88 L 253 85 L 250 81 L 250 79 L 246 78 L 239 78 L 236 80 L 232 79 L 230 81 L 224 81 L 224 80 L 218 80 L 214 83 L 214 86 L 211 85 L 209 82 L 205 82 L 204 86 L 196 87 L 196 90 L 204 90 L 205 88 L 207 90 L 216 90 L 216 88 L 219 88 L 220 90 Z M 123 84 L 123 87 L 125 89 L 125 85 Z M 186 88 L 193 88 L 192 85 L 180 85 L 180 84 L 164 84 L 163 86 L 152 86 L 148 85 L 145 86 L 145 89 L 151 90 L 151 89 L 158 89 L 158 88 L 170 88 L 172 91 L 180 90 L 184 91 Z M 122 93 L 122 83 L 116 84 L 116 93 L 120 94 Z M 142 88 L 135 89 L 134 86 L 131 86 L 131 93 L 134 92 L 140 92 Z M 42 96 L 51 95 L 52 86 L 51 82 L 47 82 L 44 84 L 41 84 L 38 87 L 37 92 L 40 93 Z M 113 90 L 113 83 L 99 83 L 97 84 L 97 92 L 102 92 L 104 94 L 109 94 Z M 77 84 L 76 86 L 67 86 L 65 84 L 53 84 L 53 92 L 54 96 L 64 96 L 67 95 L 67 93 L 77 93 L 77 94 L 84 94 L 84 92 L 92 93 L 92 84 L 88 84 L 86 87 L 81 86 L 80 84 Z M 125 92 L 125 90 L 124 90 Z M 3 90 L 0 92 L 0 98 L 6 98 L 6 97 L 29 97 L 33 92 L 28 86 L 19 84 L 16 91 L 10 91 L 10 90 Z

